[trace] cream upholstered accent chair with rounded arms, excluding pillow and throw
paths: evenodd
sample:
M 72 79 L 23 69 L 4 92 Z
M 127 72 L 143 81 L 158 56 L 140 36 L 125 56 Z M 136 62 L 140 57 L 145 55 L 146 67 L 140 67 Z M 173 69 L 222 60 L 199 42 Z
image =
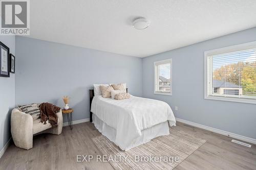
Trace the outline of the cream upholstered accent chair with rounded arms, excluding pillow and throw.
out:
M 19 111 L 18 108 L 14 108 L 11 114 L 11 133 L 12 139 L 16 147 L 29 150 L 33 148 L 33 136 L 40 133 L 52 133 L 55 135 L 61 134 L 62 131 L 62 111 L 57 113 L 58 127 L 51 129 L 51 124 L 47 121 L 44 125 L 40 122 L 40 119 L 33 120 L 30 114 L 26 114 Z

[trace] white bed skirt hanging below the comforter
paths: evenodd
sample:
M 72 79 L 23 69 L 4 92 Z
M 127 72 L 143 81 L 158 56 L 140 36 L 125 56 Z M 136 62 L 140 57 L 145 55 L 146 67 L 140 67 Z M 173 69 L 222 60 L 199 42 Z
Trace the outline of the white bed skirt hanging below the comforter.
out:
M 99 119 L 95 114 L 93 114 L 93 124 L 98 129 L 98 131 L 108 137 L 111 141 L 115 142 L 116 139 L 116 130 Z M 151 128 L 147 128 L 141 131 L 141 136 L 135 138 L 129 147 L 125 148 L 125 151 L 130 150 L 134 147 L 137 147 L 140 144 L 146 143 L 151 139 L 154 139 L 157 136 L 169 135 L 169 127 L 168 122 L 164 122 L 158 125 L 155 125 Z

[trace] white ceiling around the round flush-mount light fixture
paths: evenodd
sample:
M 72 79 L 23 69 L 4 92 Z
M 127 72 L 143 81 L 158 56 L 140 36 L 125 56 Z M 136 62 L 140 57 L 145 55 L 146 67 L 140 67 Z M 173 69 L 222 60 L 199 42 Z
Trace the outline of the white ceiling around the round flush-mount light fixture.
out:
M 138 16 L 151 21 L 135 30 Z M 255 0 L 30 1 L 30 36 L 146 57 L 256 27 Z

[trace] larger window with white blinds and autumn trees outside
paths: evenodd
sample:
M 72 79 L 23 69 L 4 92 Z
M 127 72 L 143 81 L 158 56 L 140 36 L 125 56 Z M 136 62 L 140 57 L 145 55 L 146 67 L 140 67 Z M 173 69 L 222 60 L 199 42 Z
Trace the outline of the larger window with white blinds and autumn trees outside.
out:
M 205 99 L 256 104 L 256 41 L 204 56 Z

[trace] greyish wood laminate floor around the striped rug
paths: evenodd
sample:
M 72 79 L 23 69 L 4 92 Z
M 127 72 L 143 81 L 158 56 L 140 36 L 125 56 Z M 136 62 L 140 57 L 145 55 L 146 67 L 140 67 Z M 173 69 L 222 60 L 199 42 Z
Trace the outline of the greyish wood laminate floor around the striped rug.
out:
M 256 169 L 256 145 L 251 148 L 230 142 L 232 138 L 177 123 L 184 131 L 208 139 L 197 151 L 176 166 L 175 170 Z M 176 128 L 176 127 L 172 127 Z M 63 127 L 62 134 L 34 136 L 33 148 L 24 150 L 12 142 L 0 159 L 0 169 L 113 169 L 109 162 L 97 162 L 102 155 L 91 140 L 100 133 L 87 122 Z M 77 155 L 93 155 L 90 162 L 76 162 Z

